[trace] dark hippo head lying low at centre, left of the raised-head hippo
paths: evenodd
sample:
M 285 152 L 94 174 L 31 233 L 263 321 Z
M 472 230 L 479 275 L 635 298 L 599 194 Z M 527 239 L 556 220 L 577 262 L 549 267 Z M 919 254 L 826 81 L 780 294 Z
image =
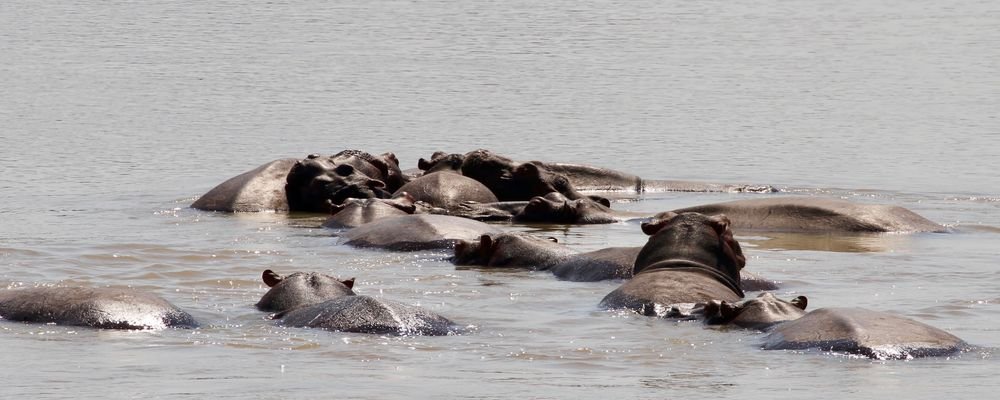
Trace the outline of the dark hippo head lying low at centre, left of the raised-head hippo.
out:
M 520 233 L 482 235 L 479 241 L 455 244 L 455 265 L 487 267 L 545 267 L 566 250 L 553 237 L 541 238 Z

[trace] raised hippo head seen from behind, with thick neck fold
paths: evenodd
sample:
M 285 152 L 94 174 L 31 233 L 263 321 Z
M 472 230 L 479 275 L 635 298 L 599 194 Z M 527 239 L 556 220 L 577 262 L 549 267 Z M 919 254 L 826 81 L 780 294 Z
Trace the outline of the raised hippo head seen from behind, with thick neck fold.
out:
M 634 273 L 663 260 L 683 259 L 715 266 L 738 283 L 746 256 L 729 225 L 729 218 L 722 214 L 665 212 L 653 216 L 642 224 L 643 233 L 650 238 L 636 257 Z

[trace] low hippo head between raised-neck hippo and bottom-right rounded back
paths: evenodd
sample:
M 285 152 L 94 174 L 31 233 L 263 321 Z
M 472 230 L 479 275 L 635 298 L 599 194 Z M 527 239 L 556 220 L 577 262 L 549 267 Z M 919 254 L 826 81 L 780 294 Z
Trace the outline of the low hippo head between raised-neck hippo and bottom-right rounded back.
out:
M 705 323 L 709 325 L 731 325 L 746 329 L 765 330 L 771 326 L 798 319 L 806 314 L 808 300 L 798 296 L 792 301 L 761 293 L 755 299 L 736 303 L 712 300 L 704 304 Z

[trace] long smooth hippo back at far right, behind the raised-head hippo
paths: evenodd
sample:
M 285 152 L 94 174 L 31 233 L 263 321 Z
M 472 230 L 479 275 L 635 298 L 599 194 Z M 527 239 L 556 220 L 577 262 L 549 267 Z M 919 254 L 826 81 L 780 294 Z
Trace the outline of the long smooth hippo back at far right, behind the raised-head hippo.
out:
M 944 226 L 898 206 L 821 197 L 736 200 L 674 210 L 725 214 L 733 229 L 786 232 L 947 232 Z

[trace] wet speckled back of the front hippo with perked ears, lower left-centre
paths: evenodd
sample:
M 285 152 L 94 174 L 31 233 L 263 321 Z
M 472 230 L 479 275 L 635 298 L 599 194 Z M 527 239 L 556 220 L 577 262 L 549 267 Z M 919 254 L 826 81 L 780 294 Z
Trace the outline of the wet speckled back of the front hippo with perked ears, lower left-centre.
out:
M 371 296 L 345 296 L 281 315 L 286 326 L 391 335 L 447 335 L 449 319 L 420 307 Z

